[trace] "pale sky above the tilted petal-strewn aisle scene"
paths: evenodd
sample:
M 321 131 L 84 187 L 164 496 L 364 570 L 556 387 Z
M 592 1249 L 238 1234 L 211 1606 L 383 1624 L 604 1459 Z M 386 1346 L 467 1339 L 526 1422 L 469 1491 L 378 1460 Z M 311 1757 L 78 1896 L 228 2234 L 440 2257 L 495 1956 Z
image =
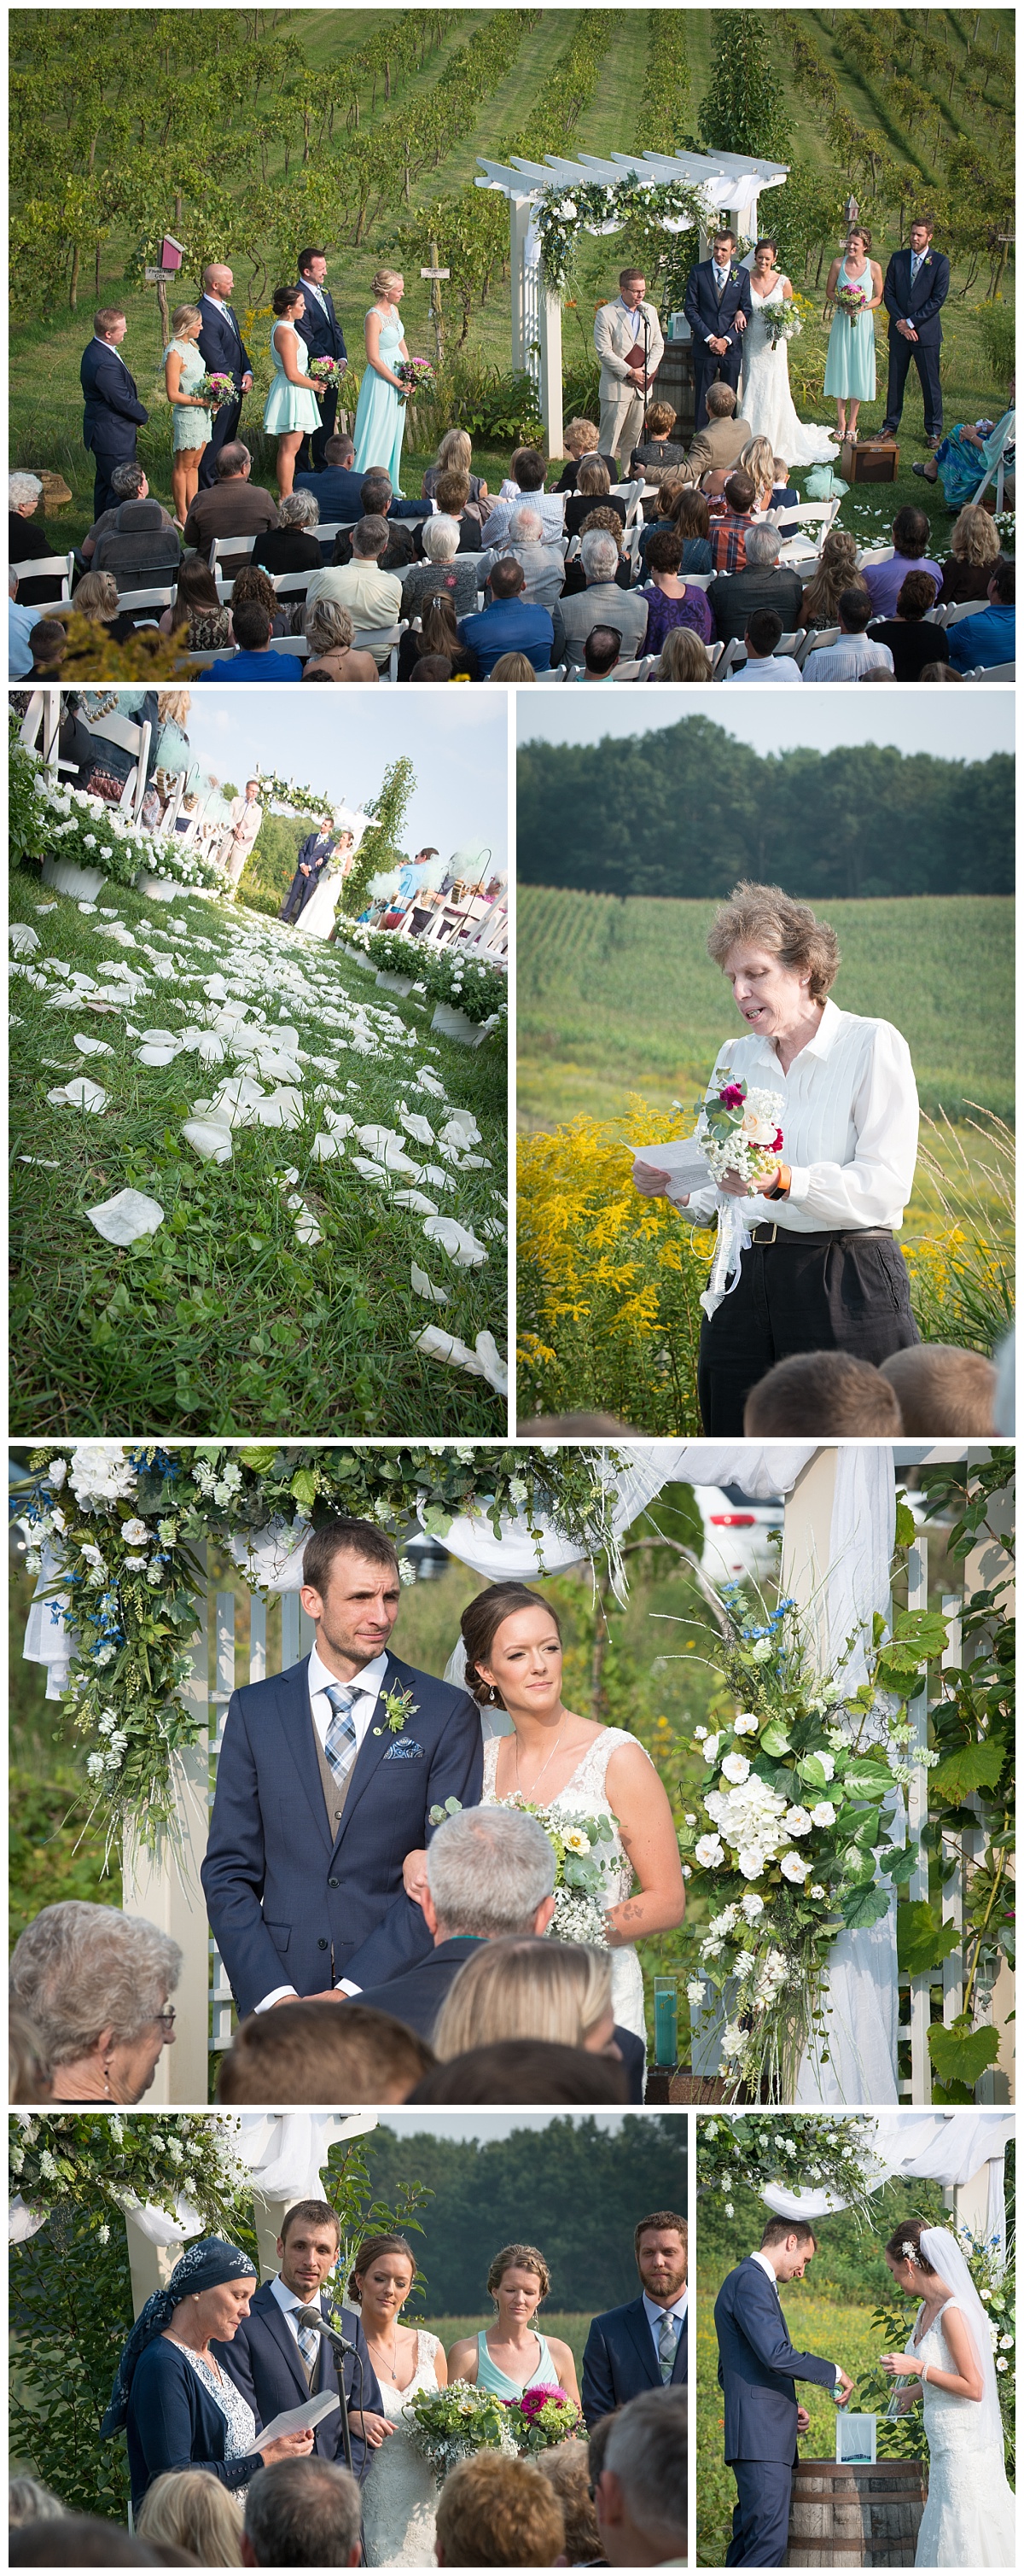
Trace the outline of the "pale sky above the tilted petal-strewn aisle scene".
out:
M 417 786 L 401 848 L 450 858 L 468 845 L 507 868 L 507 690 L 196 688 L 188 739 L 203 768 L 242 788 L 255 768 L 360 806 L 407 752 Z M 298 701 L 298 703 L 296 703 Z

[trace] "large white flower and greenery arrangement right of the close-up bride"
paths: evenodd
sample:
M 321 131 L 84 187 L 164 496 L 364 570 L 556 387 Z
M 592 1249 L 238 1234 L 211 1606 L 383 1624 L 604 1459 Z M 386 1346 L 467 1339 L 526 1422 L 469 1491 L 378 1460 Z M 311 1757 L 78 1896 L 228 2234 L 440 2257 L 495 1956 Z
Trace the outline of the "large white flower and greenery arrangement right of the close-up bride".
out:
M 893 1633 L 875 1618 L 864 1636 L 867 1682 L 816 1672 L 813 1646 L 785 1600 L 764 1625 L 741 1623 L 736 1589 L 723 1597 L 720 1664 L 738 1716 L 695 1731 L 705 1759 L 702 1808 L 679 1842 L 695 1893 L 726 1904 L 700 1942 L 702 1976 L 690 2002 L 723 1996 L 726 2081 L 754 2099 L 792 2102 L 810 2035 L 823 2038 L 826 1968 L 836 1935 L 888 1914 L 913 1875 L 916 1852 L 890 1842 L 885 1801 L 911 1783 L 908 1700 L 947 1625 L 903 1610 Z M 934 1765 L 934 1752 L 916 1754 Z

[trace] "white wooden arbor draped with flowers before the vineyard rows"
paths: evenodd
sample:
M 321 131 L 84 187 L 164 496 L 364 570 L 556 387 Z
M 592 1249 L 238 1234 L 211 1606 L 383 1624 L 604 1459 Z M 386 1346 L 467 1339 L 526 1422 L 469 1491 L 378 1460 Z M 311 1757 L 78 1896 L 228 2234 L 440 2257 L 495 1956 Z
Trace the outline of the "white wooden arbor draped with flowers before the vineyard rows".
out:
M 561 456 L 561 299 L 551 296 L 540 273 L 540 240 L 533 222 L 538 196 L 558 185 L 574 188 L 615 185 L 623 178 L 679 180 L 695 188 L 705 206 L 700 255 L 705 258 L 710 227 L 728 216 L 733 232 L 756 234 L 756 201 L 762 188 L 782 188 L 790 170 L 782 162 L 746 160 L 738 152 L 612 152 L 594 160 L 563 160 L 548 152 L 543 162 L 520 160 L 491 162 L 479 155 L 484 178 L 479 188 L 497 188 L 509 201 L 509 268 L 512 268 L 512 366 L 525 368 L 540 394 L 540 417 L 548 456 Z M 625 229 L 628 216 L 602 224 L 602 232 Z M 666 224 L 666 232 L 679 229 Z

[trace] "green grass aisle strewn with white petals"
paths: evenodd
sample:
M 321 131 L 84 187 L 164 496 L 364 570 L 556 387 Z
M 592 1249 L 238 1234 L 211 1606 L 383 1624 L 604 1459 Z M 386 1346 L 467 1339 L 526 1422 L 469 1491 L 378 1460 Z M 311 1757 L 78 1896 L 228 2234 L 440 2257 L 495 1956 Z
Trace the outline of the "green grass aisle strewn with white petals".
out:
M 31 971 L 15 976 L 10 1038 L 10 1427 L 36 1437 L 121 1432 L 126 1422 L 139 1435 L 296 1425 L 499 1435 L 504 1399 L 484 1378 L 419 1358 L 412 1342 L 440 1316 L 468 1345 L 489 1329 L 504 1347 L 504 1036 L 479 1054 L 432 1038 L 430 1002 L 381 994 L 373 971 L 337 948 L 298 943 L 244 909 L 226 914 L 206 894 L 147 909 L 144 896 L 108 884 L 100 907 L 82 914 L 75 899 L 18 873 L 10 914 L 41 938 Z M 46 961 L 54 969 L 39 989 Z M 77 1010 L 51 1007 L 72 974 L 90 976 L 95 992 Z M 301 1066 L 301 1123 L 237 1126 L 226 1164 L 198 1162 L 180 1128 L 198 1095 L 214 1097 L 242 1066 L 252 1077 L 252 1056 L 232 1061 L 226 1043 L 221 1066 L 198 1054 L 139 1064 L 154 1028 L 211 1028 L 224 1005 L 224 989 L 203 992 L 214 976 L 244 1002 L 250 1028 L 265 1030 L 262 1046 L 296 1048 Z M 113 1007 L 90 1007 L 98 997 Z M 75 1036 L 100 1038 L 111 1054 L 80 1054 Z M 46 1100 L 82 1069 L 108 1095 L 100 1115 Z M 437 1133 L 448 1110 L 430 1084 L 417 1087 L 419 1069 L 481 1128 L 484 1170 L 453 1172 L 448 1190 L 422 1182 L 443 1213 L 486 1239 L 486 1262 L 473 1270 L 430 1244 L 422 1213 L 396 1206 L 391 1188 L 355 1172 L 355 1133 L 329 1162 L 311 1151 L 332 1115 L 394 1128 L 399 1100 L 427 1113 Z M 165 1216 L 157 1234 L 113 1249 L 85 1211 L 123 1188 L 157 1198 Z M 296 1234 L 296 1195 L 319 1244 Z M 412 1262 L 448 1291 L 437 1314 L 414 1296 Z

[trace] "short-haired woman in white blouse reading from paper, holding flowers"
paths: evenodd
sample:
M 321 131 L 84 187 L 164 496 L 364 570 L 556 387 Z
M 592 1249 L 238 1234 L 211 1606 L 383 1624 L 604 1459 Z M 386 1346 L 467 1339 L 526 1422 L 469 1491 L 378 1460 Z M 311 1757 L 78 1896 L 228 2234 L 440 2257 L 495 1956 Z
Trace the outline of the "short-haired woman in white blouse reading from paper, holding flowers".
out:
M 708 1100 L 746 1082 L 777 1100 L 780 1131 L 772 1177 L 720 1182 L 744 1203 L 744 1247 L 700 1327 L 700 1417 L 718 1437 L 744 1432 L 751 1386 L 792 1352 L 846 1350 L 877 1368 L 921 1340 L 898 1249 L 919 1095 L 898 1028 L 831 1002 L 839 940 L 810 904 L 744 881 L 718 907 L 708 953 L 744 1020 L 744 1036 L 718 1048 Z M 718 1211 L 713 1182 L 682 1198 L 654 1167 L 633 1180 L 641 1198 L 672 1195 L 697 1224 Z

